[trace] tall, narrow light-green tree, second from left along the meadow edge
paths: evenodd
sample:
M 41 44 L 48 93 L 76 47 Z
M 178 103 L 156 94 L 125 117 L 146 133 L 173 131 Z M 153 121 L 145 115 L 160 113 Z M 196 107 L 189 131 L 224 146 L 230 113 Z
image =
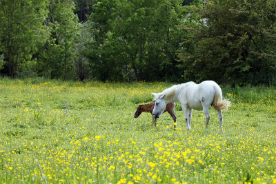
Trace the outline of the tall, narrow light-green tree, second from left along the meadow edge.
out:
M 47 6 L 46 26 L 50 37 L 41 45 L 37 59 L 39 75 L 49 78 L 75 79 L 75 50 L 78 19 L 74 14 L 75 3 L 50 0 Z

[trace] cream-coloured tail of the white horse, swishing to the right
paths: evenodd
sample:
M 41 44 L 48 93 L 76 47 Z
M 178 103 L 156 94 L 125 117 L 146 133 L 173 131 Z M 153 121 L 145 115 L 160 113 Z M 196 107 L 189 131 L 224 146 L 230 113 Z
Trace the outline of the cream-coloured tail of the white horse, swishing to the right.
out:
M 222 99 L 222 92 L 219 85 L 215 86 L 215 96 L 213 101 L 213 106 L 215 110 L 228 110 L 228 107 L 230 107 L 231 103 L 227 99 Z

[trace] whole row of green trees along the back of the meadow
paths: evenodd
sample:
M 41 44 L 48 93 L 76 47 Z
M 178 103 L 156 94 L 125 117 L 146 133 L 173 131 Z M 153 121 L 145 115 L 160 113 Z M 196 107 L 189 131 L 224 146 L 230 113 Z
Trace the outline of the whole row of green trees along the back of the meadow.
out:
M 2 76 L 276 85 L 274 0 L 0 0 Z

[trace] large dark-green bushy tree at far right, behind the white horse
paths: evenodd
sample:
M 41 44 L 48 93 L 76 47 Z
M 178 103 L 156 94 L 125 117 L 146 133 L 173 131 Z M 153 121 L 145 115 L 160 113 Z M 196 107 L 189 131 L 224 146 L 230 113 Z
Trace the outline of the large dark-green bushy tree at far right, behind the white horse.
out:
M 180 57 L 186 77 L 219 83 L 275 81 L 275 1 L 210 0 Z M 274 51 L 273 51 L 274 50 Z

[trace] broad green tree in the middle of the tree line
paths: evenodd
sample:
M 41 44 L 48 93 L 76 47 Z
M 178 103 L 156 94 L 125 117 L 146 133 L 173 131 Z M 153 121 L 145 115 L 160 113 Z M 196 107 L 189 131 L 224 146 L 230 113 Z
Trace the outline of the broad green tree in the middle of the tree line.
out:
M 88 57 L 101 79 L 119 74 L 135 80 L 155 80 L 164 76 L 175 61 L 181 42 L 182 1 L 98 1 L 90 15 L 92 34 Z M 132 74 L 130 72 L 132 70 Z M 109 76 L 108 76 L 109 75 Z

